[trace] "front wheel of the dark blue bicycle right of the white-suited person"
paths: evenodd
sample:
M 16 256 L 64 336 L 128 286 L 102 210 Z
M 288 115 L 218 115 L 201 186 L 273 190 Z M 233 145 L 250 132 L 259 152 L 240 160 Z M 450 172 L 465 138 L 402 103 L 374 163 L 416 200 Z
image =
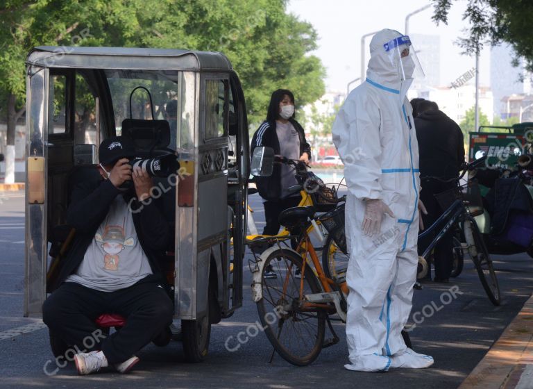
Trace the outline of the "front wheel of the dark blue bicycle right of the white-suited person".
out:
M 466 242 L 468 245 L 475 245 L 476 255 L 472 256 L 472 260 L 477 270 L 477 274 L 480 276 L 481 284 L 487 296 L 491 300 L 492 304 L 500 305 L 500 286 L 498 285 L 498 279 L 496 278 L 496 272 L 494 271 L 492 260 L 489 256 L 489 250 L 483 240 L 483 235 L 480 229 L 477 227 L 477 223 L 474 218 L 468 216 L 464 221 L 464 233 Z M 471 233 L 471 237 L 468 236 Z M 470 249 L 469 249 L 470 251 Z

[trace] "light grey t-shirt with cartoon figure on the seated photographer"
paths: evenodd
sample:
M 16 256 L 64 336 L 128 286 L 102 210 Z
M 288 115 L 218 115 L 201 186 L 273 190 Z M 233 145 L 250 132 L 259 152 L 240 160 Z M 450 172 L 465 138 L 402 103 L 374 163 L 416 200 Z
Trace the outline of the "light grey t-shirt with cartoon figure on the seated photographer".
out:
M 133 217 L 119 195 L 87 247 L 81 265 L 66 281 L 113 292 L 128 288 L 149 274 L 152 270 L 137 239 Z

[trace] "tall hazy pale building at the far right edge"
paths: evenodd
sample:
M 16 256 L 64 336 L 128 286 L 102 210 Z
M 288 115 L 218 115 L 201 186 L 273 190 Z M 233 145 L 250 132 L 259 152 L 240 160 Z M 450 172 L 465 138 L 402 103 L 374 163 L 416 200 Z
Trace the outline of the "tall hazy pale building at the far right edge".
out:
M 520 107 L 524 109 L 531 104 L 527 96 L 532 94 L 532 74 L 525 71 L 523 58 L 518 60 L 518 67 L 511 64 L 513 58 L 514 51 L 507 44 L 491 48 L 494 114 L 501 119 L 519 117 Z M 518 101 L 521 103 L 518 104 Z M 527 110 L 523 113 L 527 113 Z

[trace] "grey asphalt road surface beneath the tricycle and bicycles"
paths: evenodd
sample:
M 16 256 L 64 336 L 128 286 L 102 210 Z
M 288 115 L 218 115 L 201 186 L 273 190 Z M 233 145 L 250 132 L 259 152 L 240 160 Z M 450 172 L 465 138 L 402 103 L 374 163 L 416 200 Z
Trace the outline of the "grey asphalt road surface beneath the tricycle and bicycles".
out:
M 262 219 L 257 195 L 251 199 L 255 219 Z M 257 223 L 262 229 L 262 224 Z M 294 367 L 279 356 L 269 364 L 271 346 L 264 333 L 250 338 L 237 351 L 224 346 L 229 336 L 246 331 L 257 319 L 251 301 L 251 277 L 244 269 L 244 306 L 212 328 L 208 359 L 196 365 L 183 361 L 180 342 L 167 347 L 149 345 L 138 356 L 141 362 L 130 374 L 115 372 L 77 376 L 73 365 L 54 375 L 53 356 L 46 329 L 39 320 L 22 317 L 24 293 L 24 198 L 22 193 L 1 197 L 0 204 L 0 388 L 457 388 L 473 370 L 505 326 L 514 318 L 533 291 L 533 260 L 527 254 L 496 256 L 496 269 L 504 296 L 493 306 L 481 287 L 470 261 L 449 284 L 425 284 L 414 292 L 416 328 L 411 332 L 414 349 L 434 357 L 426 370 L 390 370 L 385 374 L 344 370 L 348 362 L 344 326 L 335 325 L 341 342 L 323 349 L 308 367 Z M 459 290 L 450 298 L 450 288 Z M 446 304 L 444 304 L 446 303 Z M 425 313 L 422 315 L 421 313 Z M 420 323 L 420 321 L 423 322 Z M 11 338 L 6 332 L 37 324 Z M 20 332 L 20 331 L 18 331 Z M 2 339 L 4 338 L 4 339 Z M 50 362 L 49 362 L 50 361 Z

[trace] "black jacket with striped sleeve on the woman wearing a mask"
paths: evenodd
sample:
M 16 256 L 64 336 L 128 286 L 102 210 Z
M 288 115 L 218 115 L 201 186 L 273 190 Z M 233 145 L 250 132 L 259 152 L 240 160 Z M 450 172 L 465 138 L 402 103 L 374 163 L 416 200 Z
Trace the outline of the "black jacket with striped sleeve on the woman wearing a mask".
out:
M 289 119 L 289 122 L 294 126 L 296 132 L 300 137 L 300 156 L 303 153 L 307 153 L 311 158 L 311 146 L 305 140 L 305 133 L 300 123 L 294 119 Z M 253 149 L 258 146 L 272 147 L 274 154 L 280 154 L 280 142 L 278 135 L 276 134 L 276 121 L 267 122 L 264 121 L 259 126 L 259 129 L 255 131 L 251 144 L 251 155 L 253 155 Z M 269 177 L 256 177 L 255 183 L 257 185 L 257 191 L 259 195 L 266 200 L 278 200 L 281 197 L 281 165 L 279 163 L 274 164 L 272 175 Z

